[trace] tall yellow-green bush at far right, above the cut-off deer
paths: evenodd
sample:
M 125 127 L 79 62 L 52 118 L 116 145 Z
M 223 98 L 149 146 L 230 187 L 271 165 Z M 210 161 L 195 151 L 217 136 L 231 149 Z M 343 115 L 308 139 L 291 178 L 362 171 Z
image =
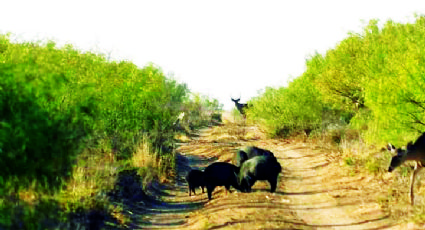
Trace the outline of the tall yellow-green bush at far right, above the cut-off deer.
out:
M 351 111 L 369 142 L 405 144 L 425 130 L 425 18 L 413 24 L 371 20 L 308 65 L 325 103 Z

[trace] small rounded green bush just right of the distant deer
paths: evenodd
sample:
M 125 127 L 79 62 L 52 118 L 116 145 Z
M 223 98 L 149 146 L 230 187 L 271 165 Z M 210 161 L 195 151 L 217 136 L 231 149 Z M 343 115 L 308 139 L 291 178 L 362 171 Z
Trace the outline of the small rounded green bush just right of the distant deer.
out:
M 287 88 L 267 88 L 251 103 L 248 116 L 261 121 L 272 136 L 310 133 L 321 126 L 321 95 L 307 76 L 295 79 Z

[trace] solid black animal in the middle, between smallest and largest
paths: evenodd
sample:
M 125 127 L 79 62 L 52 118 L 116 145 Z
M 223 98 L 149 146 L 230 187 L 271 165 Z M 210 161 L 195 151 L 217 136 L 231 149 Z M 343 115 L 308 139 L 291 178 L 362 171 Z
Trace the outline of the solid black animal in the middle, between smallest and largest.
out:
M 212 199 L 212 192 L 217 186 L 224 186 L 230 191 L 230 186 L 239 189 L 238 184 L 239 168 L 226 162 L 215 162 L 204 170 L 205 186 L 207 187 L 208 199 Z

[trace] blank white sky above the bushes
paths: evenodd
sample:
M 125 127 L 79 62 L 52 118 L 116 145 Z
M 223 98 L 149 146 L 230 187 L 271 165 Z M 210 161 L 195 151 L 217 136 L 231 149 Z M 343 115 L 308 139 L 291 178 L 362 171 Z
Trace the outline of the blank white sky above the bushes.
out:
M 425 1 L 0 0 L 0 33 L 149 62 L 194 92 L 241 102 L 301 75 L 305 59 L 370 19 L 414 21 Z

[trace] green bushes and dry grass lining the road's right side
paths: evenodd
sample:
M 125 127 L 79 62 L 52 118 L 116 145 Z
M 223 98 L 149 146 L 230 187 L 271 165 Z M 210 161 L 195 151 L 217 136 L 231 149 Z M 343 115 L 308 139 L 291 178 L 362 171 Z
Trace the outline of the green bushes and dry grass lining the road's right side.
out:
M 414 23 L 371 20 L 362 33 L 314 54 L 287 87 L 250 101 L 248 122 L 272 137 L 299 136 L 341 153 L 353 174 L 392 183 L 381 203 L 393 217 L 425 222 L 425 199 L 409 208 L 409 164 L 388 174 L 388 142 L 405 146 L 425 131 L 425 17 Z M 418 183 L 420 184 L 420 183 Z M 425 197 L 425 188 L 415 193 Z M 420 199 L 420 198 L 418 198 Z

